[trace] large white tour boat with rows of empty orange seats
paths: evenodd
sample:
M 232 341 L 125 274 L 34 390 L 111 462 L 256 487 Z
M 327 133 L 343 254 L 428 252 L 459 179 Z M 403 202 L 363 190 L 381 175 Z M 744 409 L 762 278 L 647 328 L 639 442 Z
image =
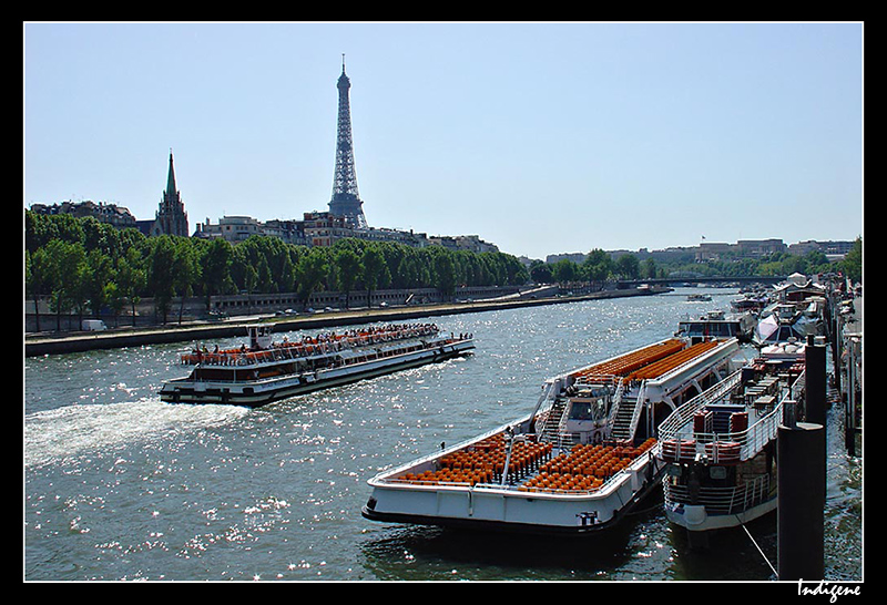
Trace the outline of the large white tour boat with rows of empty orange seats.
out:
M 373 521 L 588 534 L 661 479 L 655 427 L 723 380 L 738 342 L 671 338 L 551 378 L 532 412 L 369 479 Z

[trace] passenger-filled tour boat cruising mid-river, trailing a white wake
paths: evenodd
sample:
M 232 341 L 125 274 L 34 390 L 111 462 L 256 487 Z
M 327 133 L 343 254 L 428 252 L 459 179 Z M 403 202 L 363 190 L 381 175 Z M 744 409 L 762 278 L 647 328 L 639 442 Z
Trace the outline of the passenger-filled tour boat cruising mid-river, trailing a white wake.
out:
M 187 377 L 160 391 L 172 403 L 259 407 L 296 394 L 470 355 L 471 335 L 446 335 L 434 324 L 402 324 L 272 341 L 268 326 L 251 326 L 249 345 L 195 349 L 181 357 Z

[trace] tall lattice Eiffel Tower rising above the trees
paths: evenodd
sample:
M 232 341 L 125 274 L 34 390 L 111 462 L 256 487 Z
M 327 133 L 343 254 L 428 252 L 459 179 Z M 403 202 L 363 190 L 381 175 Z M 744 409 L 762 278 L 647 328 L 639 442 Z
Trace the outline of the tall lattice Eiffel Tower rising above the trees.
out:
M 357 173 L 354 168 L 354 144 L 351 142 L 351 110 L 348 103 L 348 90 L 351 82 L 345 75 L 345 55 L 341 55 L 341 75 L 339 90 L 339 121 L 336 137 L 336 173 L 333 178 L 333 199 L 329 201 L 329 214 L 344 216 L 349 225 L 367 228 L 360 195 L 357 193 Z

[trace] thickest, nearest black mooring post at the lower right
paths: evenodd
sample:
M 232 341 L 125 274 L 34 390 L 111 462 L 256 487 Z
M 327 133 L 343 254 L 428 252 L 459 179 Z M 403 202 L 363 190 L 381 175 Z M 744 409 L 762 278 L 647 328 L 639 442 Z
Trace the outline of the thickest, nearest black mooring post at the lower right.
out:
M 777 431 L 778 578 L 824 580 L 826 441 L 822 424 L 795 421 L 786 402 Z

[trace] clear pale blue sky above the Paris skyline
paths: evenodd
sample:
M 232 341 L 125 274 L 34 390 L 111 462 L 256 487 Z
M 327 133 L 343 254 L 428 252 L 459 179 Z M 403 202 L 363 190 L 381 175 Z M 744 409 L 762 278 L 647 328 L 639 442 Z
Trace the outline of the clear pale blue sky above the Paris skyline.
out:
M 345 54 L 371 226 L 543 258 L 863 234 L 861 23 L 43 23 L 24 207 L 190 227 L 333 192 Z

